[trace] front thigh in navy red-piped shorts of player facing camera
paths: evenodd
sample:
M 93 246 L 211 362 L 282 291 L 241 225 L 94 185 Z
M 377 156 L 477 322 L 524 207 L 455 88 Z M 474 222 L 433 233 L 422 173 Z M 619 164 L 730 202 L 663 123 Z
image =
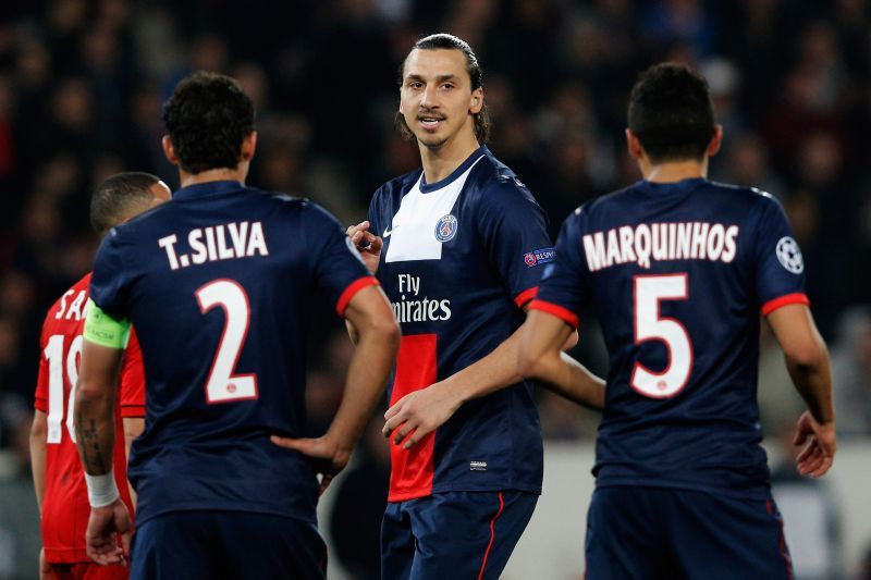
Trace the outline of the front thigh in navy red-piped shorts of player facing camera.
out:
M 410 578 L 493 579 L 532 517 L 538 495 L 449 492 L 407 502 L 417 540 Z

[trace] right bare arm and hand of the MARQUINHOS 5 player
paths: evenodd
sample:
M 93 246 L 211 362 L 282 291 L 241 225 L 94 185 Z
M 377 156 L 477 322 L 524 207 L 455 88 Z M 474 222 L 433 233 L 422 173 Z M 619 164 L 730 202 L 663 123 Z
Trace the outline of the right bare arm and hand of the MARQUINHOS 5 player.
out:
M 805 305 L 778 308 L 768 322 L 783 348 L 793 384 L 808 406 L 796 429 L 796 445 L 807 442 L 797 459 L 798 471 L 818 478 L 832 467 L 837 451 L 829 351 Z

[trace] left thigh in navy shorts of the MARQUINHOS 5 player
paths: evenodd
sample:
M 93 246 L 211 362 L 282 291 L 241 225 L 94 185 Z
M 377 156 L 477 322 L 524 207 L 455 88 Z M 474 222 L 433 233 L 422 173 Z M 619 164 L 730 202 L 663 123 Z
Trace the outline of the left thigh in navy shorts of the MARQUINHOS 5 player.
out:
M 599 488 L 587 513 L 589 580 L 673 578 L 663 550 L 659 490 Z

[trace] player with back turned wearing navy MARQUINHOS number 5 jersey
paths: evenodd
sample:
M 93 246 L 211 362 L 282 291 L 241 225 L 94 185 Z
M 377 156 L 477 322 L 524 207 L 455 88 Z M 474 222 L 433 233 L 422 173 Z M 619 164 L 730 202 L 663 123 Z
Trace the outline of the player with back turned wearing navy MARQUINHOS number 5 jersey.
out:
M 704 78 L 649 69 L 628 125 L 643 181 L 565 221 L 519 350 L 523 374 L 560 382 L 560 342 L 578 312 L 590 305 L 602 325 L 611 368 L 587 577 L 790 578 L 760 446 L 760 312 L 808 405 L 799 472 L 825 473 L 836 447 L 801 252 L 772 196 L 706 178 L 722 128 Z

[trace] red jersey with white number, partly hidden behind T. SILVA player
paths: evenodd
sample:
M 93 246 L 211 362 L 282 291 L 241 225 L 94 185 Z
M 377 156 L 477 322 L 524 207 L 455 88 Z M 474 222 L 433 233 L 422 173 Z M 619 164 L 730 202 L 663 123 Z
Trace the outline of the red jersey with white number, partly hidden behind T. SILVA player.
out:
M 66 291 L 49 309 L 39 346 L 39 379 L 34 407 L 47 415 L 46 493 L 42 545 L 50 563 L 90 562 L 85 530 L 90 515 L 84 471 L 73 427 L 72 393 L 78 379 L 90 274 Z M 122 417 L 145 416 L 145 372 L 139 343 L 131 333 L 115 398 L 114 469 L 121 498 L 133 513 L 124 459 Z

